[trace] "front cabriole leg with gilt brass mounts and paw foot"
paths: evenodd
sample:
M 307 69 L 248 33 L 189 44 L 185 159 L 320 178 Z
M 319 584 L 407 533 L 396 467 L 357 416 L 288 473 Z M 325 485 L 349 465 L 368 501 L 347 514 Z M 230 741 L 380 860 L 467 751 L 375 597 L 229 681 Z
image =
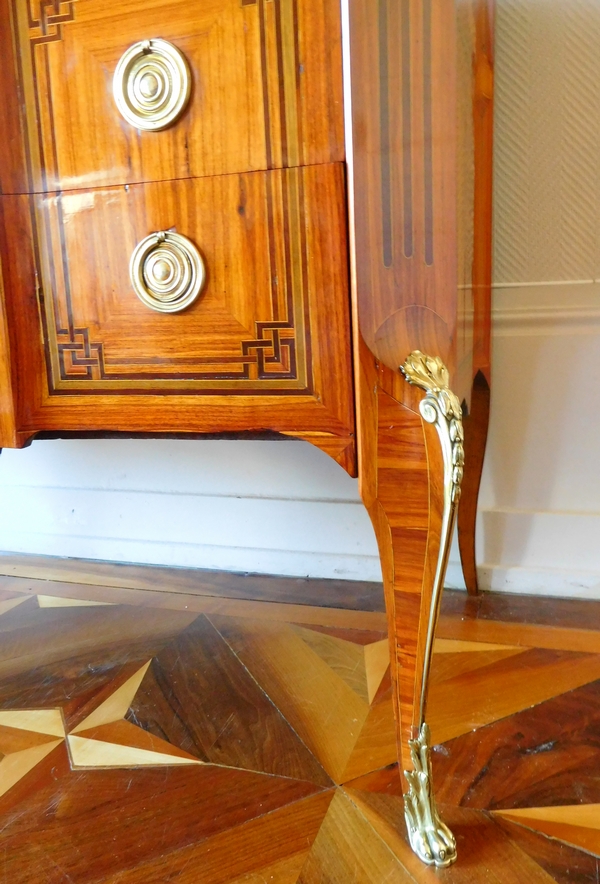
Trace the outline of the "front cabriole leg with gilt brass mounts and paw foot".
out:
M 425 390 L 416 408 L 383 389 L 398 393 L 398 381 L 390 387 L 386 372 L 372 388 L 369 407 L 363 405 L 363 418 L 371 421 L 377 441 L 370 446 L 376 468 L 366 470 L 362 491 L 383 567 L 409 839 L 423 862 L 445 867 L 456 859 L 456 843 L 435 803 L 426 713 L 460 496 L 462 413 L 440 359 L 417 350 L 402 366 L 406 380 Z M 367 443 L 363 456 L 368 451 Z

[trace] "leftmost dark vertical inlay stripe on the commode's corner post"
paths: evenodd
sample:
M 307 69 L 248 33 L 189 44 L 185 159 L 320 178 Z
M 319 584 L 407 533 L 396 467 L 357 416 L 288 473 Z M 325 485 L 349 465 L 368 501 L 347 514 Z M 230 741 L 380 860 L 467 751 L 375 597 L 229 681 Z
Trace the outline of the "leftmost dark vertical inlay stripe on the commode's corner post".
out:
M 388 54 L 388 0 L 379 0 L 379 129 L 381 137 L 381 225 L 383 263 L 391 267 L 392 160 L 390 156 L 390 71 Z

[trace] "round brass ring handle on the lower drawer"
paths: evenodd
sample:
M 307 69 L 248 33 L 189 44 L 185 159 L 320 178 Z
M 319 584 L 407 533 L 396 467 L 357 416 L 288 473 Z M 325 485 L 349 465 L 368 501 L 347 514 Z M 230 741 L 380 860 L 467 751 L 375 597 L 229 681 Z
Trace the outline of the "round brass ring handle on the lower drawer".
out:
M 129 276 L 136 295 L 147 307 L 160 313 L 178 313 L 202 291 L 206 270 L 191 240 L 179 233 L 160 231 L 137 244 Z

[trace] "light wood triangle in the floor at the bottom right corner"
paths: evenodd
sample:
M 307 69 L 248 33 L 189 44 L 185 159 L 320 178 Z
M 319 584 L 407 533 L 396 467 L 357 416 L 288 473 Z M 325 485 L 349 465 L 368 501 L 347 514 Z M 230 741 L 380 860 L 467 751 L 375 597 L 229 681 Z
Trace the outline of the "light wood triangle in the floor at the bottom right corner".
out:
M 525 807 L 495 815 L 600 856 L 600 804 Z

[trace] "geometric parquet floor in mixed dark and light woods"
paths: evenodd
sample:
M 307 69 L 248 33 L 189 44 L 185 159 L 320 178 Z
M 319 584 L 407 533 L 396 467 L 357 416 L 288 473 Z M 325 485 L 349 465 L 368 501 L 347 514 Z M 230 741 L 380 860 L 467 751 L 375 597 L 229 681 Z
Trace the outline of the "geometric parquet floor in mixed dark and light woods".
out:
M 2 558 L 0 884 L 600 882 L 600 603 L 448 594 L 435 872 L 377 590 Z

